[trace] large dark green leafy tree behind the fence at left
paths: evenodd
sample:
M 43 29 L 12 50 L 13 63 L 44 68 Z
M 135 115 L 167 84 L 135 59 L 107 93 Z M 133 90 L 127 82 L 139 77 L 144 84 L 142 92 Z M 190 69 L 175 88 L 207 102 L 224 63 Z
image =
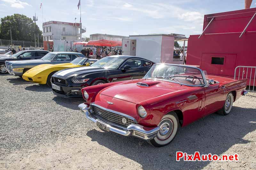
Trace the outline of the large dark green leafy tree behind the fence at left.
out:
M 39 34 L 39 42 L 43 42 L 42 31 L 31 18 L 25 15 L 14 14 L 1 18 L 0 38 L 5 40 L 11 39 L 10 28 L 12 29 L 12 40 L 17 41 L 36 41 Z

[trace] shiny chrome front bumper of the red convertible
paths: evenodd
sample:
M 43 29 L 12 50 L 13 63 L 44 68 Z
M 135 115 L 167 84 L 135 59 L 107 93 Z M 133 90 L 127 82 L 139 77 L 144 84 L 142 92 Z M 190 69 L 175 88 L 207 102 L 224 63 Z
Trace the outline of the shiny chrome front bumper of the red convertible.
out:
M 95 116 L 93 116 L 91 114 L 92 109 L 91 107 L 88 107 L 88 105 L 82 103 L 78 106 L 82 113 L 84 113 L 87 117 L 87 119 L 91 120 L 94 123 L 100 122 L 106 126 L 109 127 L 109 131 L 118 133 L 120 135 L 124 135 L 124 136 L 134 136 L 134 137 L 138 137 L 144 140 L 151 140 L 154 137 L 156 137 L 157 132 L 160 130 L 160 127 L 156 127 L 154 129 L 151 130 L 145 130 L 143 129 L 143 126 L 139 125 L 139 124 L 131 124 L 129 125 L 127 128 L 121 128 L 118 126 L 115 126 L 113 124 L 109 124 L 108 122 L 105 122 Z

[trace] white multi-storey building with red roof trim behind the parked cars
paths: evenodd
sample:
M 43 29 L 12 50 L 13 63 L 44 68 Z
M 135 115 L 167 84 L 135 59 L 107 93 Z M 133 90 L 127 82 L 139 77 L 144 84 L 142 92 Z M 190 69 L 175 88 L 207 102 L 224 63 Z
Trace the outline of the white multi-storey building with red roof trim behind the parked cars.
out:
M 59 21 L 49 21 L 43 23 L 44 41 L 49 40 L 80 40 L 82 33 L 82 23 L 68 23 Z M 81 33 L 80 33 L 81 31 Z

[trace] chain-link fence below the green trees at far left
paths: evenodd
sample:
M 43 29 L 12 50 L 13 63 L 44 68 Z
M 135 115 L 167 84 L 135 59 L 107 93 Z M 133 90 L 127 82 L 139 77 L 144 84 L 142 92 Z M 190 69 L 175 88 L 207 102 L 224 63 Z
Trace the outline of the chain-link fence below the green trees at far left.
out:
M 35 47 L 36 45 L 36 47 Z M 5 46 L 7 48 L 10 48 L 11 46 L 21 46 L 21 47 L 35 47 L 35 48 L 43 48 L 44 47 L 44 44 L 43 42 L 39 42 L 39 45 L 38 45 L 38 42 L 30 42 L 30 41 L 15 41 L 15 40 L 3 40 L 3 39 L 0 39 L 0 46 Z

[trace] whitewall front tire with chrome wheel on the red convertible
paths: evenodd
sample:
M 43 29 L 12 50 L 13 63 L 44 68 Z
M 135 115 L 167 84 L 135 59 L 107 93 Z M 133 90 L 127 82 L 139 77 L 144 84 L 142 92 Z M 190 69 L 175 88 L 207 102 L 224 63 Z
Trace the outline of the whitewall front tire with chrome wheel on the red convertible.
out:
M 176 113 L 171 112 L 164 115 L 160 123 L 159 132 L 157 132 L 156 137 L 149 141 L 150 144 L 156 147 L 162 147 L 170 144 L 177 134 L 179 129 L 179 118 Z

